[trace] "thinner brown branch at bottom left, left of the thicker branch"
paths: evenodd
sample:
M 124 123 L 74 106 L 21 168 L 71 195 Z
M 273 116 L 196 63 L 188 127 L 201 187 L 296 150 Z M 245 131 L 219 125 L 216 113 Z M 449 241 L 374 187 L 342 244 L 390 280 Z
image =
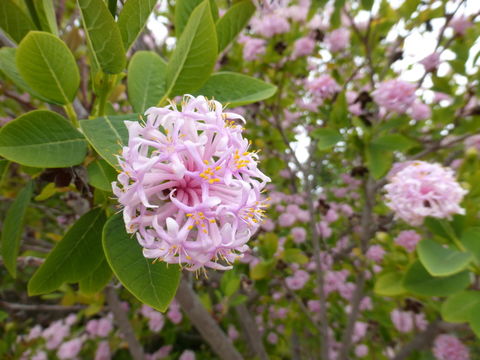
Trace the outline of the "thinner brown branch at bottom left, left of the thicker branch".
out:
M 142 345 L 138 342 L 133 332 L 132 325 L 128 320 L 127 313 L 123 310 L 120 299 L 117 292 L 111 286 L 107 286 L 105 289 L 107 295 L 108 307 L 113 313 L 113 318 L 117 326 L 120 328 L 125 340 L 128 344 L 128 350 L 135 360 L 144 360 L 145 355 L 143 353 Z

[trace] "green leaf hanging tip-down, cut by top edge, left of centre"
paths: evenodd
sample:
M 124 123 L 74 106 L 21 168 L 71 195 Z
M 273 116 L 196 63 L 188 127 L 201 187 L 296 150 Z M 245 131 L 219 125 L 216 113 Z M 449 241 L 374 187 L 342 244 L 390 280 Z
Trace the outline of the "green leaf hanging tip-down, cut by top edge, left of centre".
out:
M 83 27 L 96 66 L 107 74 L 125 68 L 125 48 L 118 25 L 103 0 L 78 0 Z

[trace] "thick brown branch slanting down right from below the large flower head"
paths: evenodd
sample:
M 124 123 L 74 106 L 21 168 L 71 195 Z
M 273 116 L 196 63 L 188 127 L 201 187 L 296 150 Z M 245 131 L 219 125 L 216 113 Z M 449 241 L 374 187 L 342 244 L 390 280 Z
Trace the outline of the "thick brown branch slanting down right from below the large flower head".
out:
M 235 349 L 232 342 L 205 309 L 185 278 L 180 282 L 175 298 L 192 324 L 219 358 L 224 360 L 243 359 L 242 355 Z

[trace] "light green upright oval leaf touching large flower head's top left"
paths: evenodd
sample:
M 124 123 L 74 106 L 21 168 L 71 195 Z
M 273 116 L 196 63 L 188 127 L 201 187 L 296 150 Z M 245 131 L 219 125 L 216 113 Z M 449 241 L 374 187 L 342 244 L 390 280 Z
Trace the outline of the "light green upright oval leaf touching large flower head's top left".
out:
M 128 65 L 128 99 L 133 110 L 143 114 L 165 94 L 167 63 L 153 51 L 137 51 Z

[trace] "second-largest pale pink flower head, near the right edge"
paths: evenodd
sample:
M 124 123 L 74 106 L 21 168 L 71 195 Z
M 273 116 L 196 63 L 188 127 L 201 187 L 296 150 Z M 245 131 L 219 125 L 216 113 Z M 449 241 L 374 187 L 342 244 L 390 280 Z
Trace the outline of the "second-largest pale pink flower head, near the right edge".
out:
M 452 169 L 425 161 L 413 161 L 385 185 L 386 205 L 395 217 L 412 226 L 432 216 L 450 219 L 464 214 L 460 203 L 467 193 L 455 180 Z

